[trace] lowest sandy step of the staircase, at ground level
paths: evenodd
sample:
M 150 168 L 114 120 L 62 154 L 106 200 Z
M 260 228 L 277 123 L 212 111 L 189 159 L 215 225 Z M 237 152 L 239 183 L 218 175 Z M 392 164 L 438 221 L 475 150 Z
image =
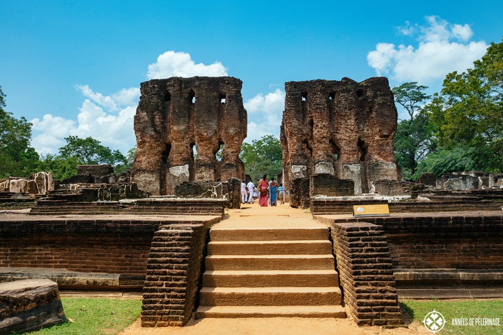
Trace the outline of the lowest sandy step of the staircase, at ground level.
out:
M 333 317 L 345 318 L 343 306 L 199 306 L 196 319 L 203 317 Z

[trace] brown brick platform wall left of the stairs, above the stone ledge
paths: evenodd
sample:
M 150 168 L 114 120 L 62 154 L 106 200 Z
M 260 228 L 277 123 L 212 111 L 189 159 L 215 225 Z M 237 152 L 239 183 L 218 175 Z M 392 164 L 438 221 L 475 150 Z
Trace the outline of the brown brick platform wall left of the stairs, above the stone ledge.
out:
M 141 220 L 0 221 L 0 267 L 144 274 L 158 226 Z

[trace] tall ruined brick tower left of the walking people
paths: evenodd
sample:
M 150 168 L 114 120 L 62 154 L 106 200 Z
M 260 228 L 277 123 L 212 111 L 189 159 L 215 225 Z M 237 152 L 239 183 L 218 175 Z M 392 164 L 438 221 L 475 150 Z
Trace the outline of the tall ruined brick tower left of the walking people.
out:
M 239 153 L 247 118 L 241 85 L 233 77 L 141 83 L 132 169 L 140 189 L 153 195 L 174 194 L 175 186 L 185 181 L 243 179 Z M 222 148 L 219 161 L 216 154 Z

